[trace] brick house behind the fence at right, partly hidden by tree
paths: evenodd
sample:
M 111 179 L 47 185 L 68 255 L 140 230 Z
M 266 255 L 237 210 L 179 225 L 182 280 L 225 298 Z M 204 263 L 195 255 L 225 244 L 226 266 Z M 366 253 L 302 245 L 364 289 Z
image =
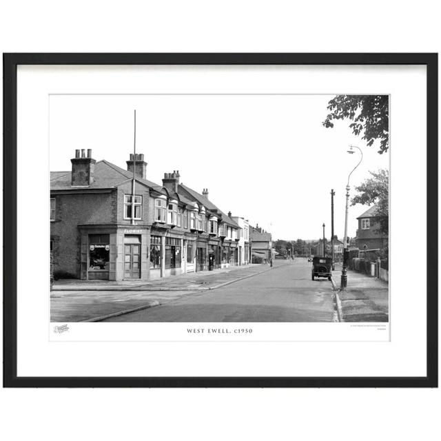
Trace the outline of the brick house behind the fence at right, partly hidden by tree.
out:
M 389 237 L 381 232 L 378 207 L 373 205 L 358 216 L 356 247 L 363 249 L 382 249 L 387 247 Z

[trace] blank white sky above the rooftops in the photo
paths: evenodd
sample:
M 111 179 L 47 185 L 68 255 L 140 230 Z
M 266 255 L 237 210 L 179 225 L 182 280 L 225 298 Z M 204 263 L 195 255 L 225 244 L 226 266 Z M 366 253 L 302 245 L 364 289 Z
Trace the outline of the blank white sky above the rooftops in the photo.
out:
M 389 169 L 389 153 L 379 143 L 367 147 L 354 136 L 351 121 L 322 126 L 334 95 L 299 94 L 145 94 L 51 95 L 50 170 L 70 170 L 76 149 L 126 168 L 134 144 L 145 155 L 147 179 L 161 185 L 164 173 L 179 170 L 181 183 L 223 212 L 258 224 L 274 239 L 317 240 L 345 227 L 345 187 L 369 171 Z M 348 235 L 356 236 L 357 216 L 369 207 L 349 206 Z

